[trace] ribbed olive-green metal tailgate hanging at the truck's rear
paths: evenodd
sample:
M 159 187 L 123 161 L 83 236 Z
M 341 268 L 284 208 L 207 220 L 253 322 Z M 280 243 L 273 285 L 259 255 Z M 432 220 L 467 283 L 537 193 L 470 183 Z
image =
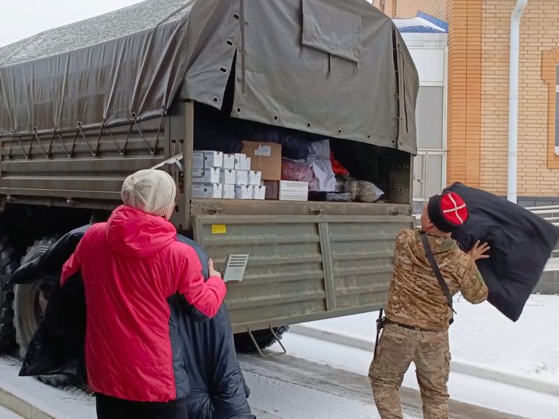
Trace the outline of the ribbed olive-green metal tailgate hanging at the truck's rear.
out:
M 242 282 L 227 285 L 241 331 L 382 307 L 394 239 L 410 226 L 409 216 L 194 216 L 194 240 L 218 270 L 249 253 Z

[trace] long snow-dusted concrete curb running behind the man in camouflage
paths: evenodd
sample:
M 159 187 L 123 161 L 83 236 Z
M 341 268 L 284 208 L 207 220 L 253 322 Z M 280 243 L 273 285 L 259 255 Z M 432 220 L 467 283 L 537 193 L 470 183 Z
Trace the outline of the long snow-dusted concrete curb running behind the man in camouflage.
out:
M 314 337 L 314 339 L 321 339 L 334 344 L 363 349 L 363 351 L 369 351 L 371 354 L 375 348 L 375 342 L 372 340 L 345 335 L 341 332 L 332 332 L 331 330 L 324 330 L 310 325 L 291 325 L 290 330 L 298 335 Z M 547 381 L 509 374 L 507 372 L 501 372 L 496 369 L 489 369 L 485 366 L 473 365 L 458 360 L 451 361 L 450 369 L 451 372 L 483 378 L 484 380 L 497 381 L 499 383 L 514 385 L 515 387 L 559 397 L 559 385 Z

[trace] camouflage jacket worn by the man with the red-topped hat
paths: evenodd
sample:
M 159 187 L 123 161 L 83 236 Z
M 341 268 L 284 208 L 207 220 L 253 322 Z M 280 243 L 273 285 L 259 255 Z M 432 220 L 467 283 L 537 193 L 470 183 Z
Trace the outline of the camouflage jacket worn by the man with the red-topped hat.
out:
M 417 328 L 447 330 L 451 309 L 420 235 L 421 230 L 404 230 L 396 238 L 386 317 Z M 488 290 L 474 260 L 450 238 L 427 237 L 452 295 L 460 291 L 472 304 L 486 300 Z

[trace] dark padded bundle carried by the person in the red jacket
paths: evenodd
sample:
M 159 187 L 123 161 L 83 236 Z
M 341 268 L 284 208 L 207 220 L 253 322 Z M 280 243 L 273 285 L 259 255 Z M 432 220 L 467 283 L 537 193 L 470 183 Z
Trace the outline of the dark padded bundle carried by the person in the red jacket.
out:
M 61 266 L 71 256 L 89 226 L 67 233 L 43 256 L 17 270 L 12 284 L 32 284 L 48 276 L 55 281 L 45 318 L 35 332 L 23 360 L 20 376 L 78 374 L 87 381 L 83 359 L 85 295 L 79 274 L 59 286 Z M 177 235 L 193 247 L 209 275 L 208 255 L 196 242 Z M 199 318 L 179 297 L 170 298 L 170 309 L 180 316 L 184 362 L 189 365 L 191 392 L 187 397 L 189 417 L 198 419 L 252 419 L 247 397 L 249 388 L 242 376 L 233 344 L 233 331 L 225 304 L 214 318 Z

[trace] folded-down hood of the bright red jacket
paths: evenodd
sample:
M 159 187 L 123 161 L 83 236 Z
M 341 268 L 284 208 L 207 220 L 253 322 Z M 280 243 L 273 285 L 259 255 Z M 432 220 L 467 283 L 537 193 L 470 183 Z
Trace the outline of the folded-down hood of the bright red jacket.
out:
M 126 205 L 112 212 L 107 242 L 117 253 L 135 258 L 152 256 L 176 240 L 177 230 L 161 216 L 145 214 Z

